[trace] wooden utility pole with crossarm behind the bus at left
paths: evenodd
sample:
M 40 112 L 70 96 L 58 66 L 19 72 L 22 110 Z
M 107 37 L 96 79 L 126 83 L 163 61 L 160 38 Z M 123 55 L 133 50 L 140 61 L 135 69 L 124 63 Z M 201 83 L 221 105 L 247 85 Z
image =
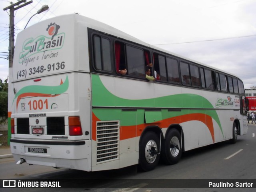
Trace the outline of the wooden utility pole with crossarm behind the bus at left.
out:
M 9 68 L 12 68 L 12 62 L 13 62 L 13 54 L 14 54 L 14 11 L 18 10 L 19 8 L 22 8 L 33 1 L 26 2 L 26 0 L 20 0 L 17 3 L 14 3 L 6 8 L 5 10 L 10 9 L 10 26 L 9 26 Z M 22 4 L 24 3 L 24 4 Z M 22 4 L 22 5 L 20 5 Z

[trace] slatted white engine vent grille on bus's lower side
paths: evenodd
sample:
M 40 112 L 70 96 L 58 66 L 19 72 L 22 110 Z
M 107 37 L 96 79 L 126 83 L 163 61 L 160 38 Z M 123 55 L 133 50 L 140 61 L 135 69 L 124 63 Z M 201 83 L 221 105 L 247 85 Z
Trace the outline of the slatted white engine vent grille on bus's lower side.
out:
M 97 122 L 97 164 L 119 158 L 119 121 Z

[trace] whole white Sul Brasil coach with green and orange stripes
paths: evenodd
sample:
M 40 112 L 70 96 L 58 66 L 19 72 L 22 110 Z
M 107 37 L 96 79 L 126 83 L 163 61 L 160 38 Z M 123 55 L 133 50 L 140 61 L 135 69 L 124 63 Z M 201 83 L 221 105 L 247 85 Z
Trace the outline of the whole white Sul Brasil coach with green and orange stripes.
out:
M 18 34 L 9 84 L 17 164 L 148 171 L 247 133 L 237 76 L 78 14 Z

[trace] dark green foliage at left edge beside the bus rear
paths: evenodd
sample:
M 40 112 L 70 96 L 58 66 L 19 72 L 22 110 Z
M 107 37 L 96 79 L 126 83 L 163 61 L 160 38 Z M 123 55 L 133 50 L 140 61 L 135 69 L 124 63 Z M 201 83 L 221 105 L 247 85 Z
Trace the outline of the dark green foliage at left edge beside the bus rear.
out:
M 8 78 L 2 81 L 0 79 L 0 123 L 8 118 Z

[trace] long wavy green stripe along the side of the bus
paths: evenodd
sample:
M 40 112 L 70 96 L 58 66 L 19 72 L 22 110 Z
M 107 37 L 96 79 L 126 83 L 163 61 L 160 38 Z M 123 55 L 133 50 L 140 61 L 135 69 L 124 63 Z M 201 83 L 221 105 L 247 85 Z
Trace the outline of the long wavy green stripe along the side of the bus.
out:
M 193 102 L 191 102 L 193 100 Z M 219 125 L 223 134 L 222 126 L 218 114 L 212 104 L 204 97 L 196 94 L 175 94 L 150 99 L 129 100 L 115 96 L 103 85 L 98 75 L 92 75 L 92 106 L 101 107 L 132 107 L 132 108 L 185 108 L 181 111 L 168 112 L 168 109 L 162 109 L 162 120 L 181 116 L 186 114 L 202 113 L 211 116 Z M 189 108 L 189 109 L 188 109 Z M 137 112 L 140 112 L 138 110 Z M 122 119 L 120 109 L 97 109 L 93 110 L 94 114 L 100 120 Z M 131 113 L 133 114 L 133 113 Z M 137 113 L 138 116 L 138 113 Z M 125 118 L 122 121 L 123 126 L 138 125 L 144 123 L 144 110 L 142 110 L 141 118 L 136 120 Z M 135 122 L 136 121 L 136 122 Z

